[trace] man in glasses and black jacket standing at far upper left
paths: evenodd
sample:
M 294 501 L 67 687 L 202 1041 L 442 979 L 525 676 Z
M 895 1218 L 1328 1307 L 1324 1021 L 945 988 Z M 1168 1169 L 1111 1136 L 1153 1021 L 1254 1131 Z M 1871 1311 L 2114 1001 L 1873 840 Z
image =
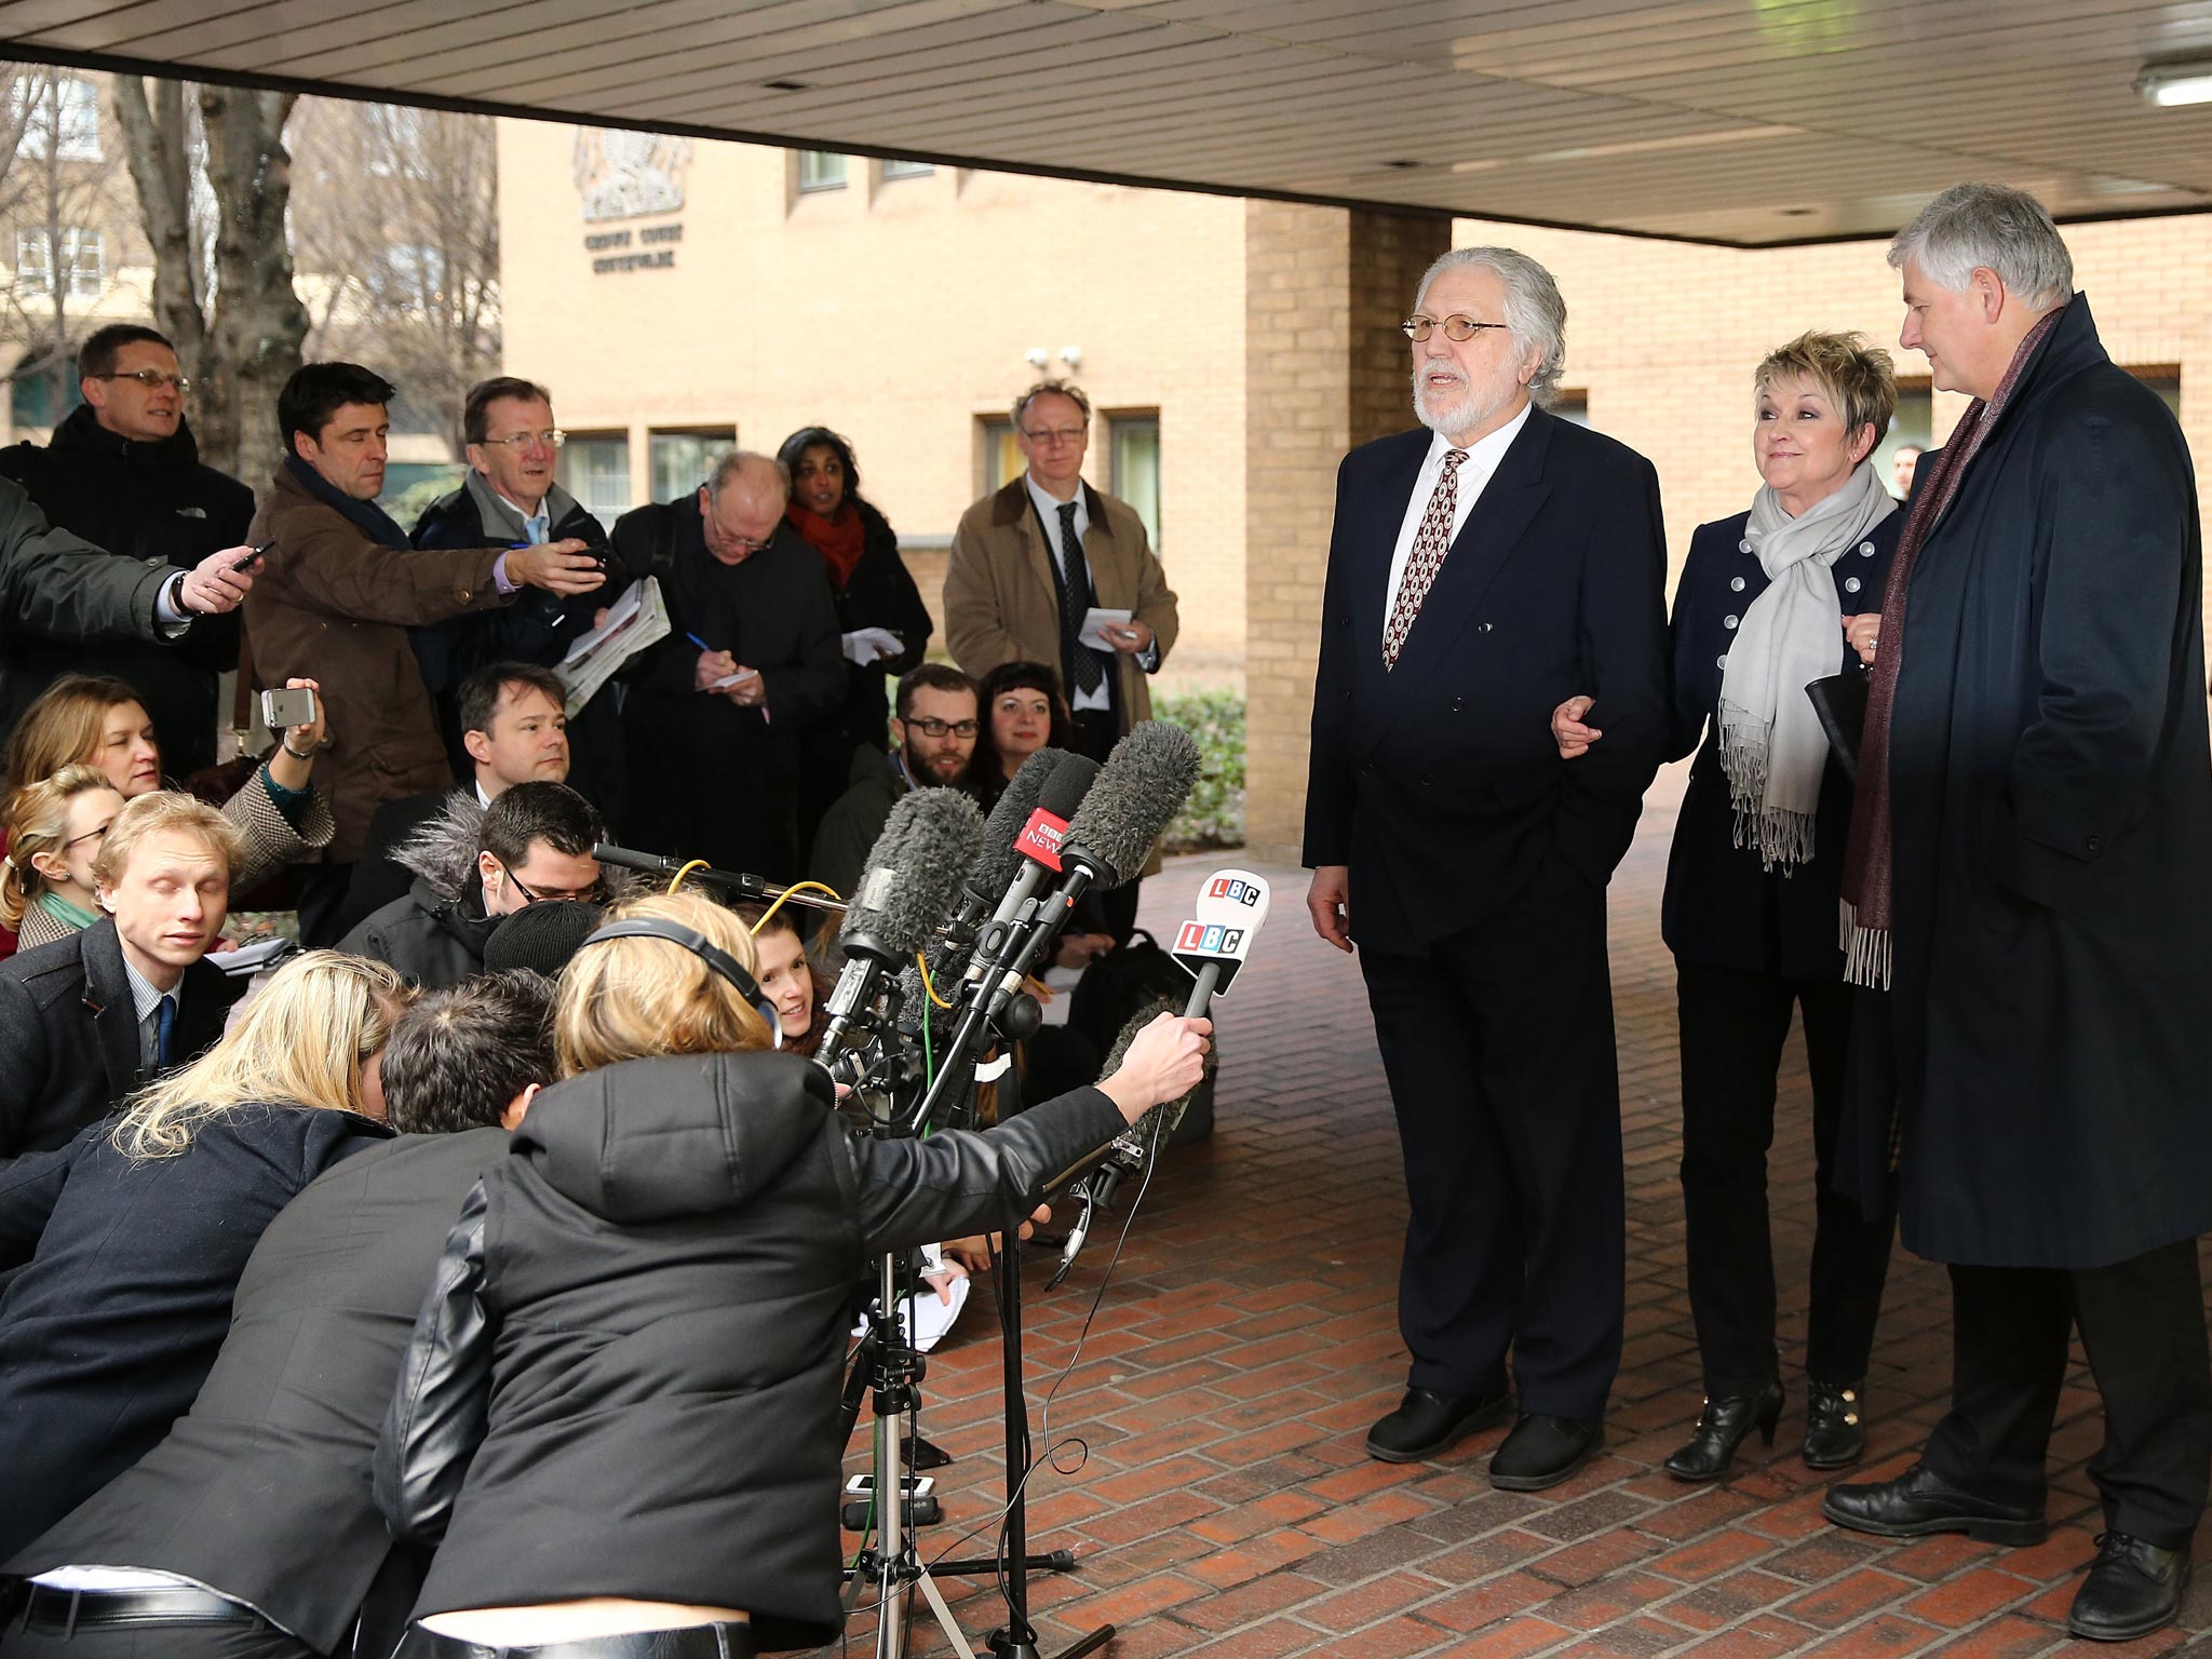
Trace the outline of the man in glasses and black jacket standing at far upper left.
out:
M 210 553 L 246 540 L 254 493 L 237 478 L 199 465 L 184 418 L 177 354 L 150 327 L 115 323 L 77 352 L 84 403 L 44 449 L 0 449 L 0 478 L 13 478 L 55 529 L 148 566 L 190 571 Z M 239 619 L 204 617 L 170 639 L 0 637 L 7 706 L 0 730 L 64 672 L 115 675 L 137 690 L 177 776 L 215 763 L 215 681 L 239 666 Z

